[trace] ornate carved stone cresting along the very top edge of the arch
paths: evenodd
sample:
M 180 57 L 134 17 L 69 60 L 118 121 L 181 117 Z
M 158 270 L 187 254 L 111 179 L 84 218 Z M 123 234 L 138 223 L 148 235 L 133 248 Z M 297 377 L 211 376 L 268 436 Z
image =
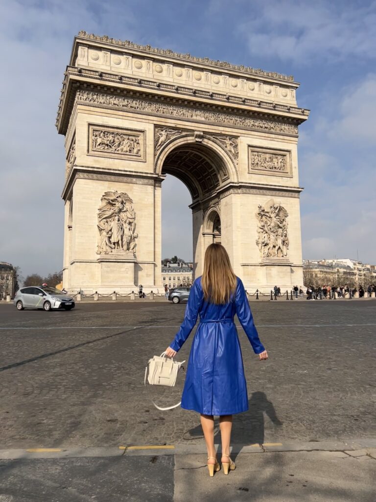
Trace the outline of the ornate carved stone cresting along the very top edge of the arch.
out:
M 172 51 L 171 49 L 158 49 L 156 47 L 151 47 L 150 45 L 139 45 L 131 42 L 129 40 L 115 40 L 114 38 L 110 38 L 107 35 L 102 37 L 98 35 L 94 35 L 94 33 L 87 33 L 85 31 L 80 31 L 78 35 L 75 37 L 76 40 L 85 40 L 87 42 L 97 42 L 101 45 L 107 45 L 118 48 L 126 48 L 132 51 L 137 51 L 138 53 L 143 53 L 148 56 L 159 56 L 165 57 L 168 59 L 179 59 L 182 62 L 196 63 L 204 66 L 215 67 L 218 68 L 219 71 L 236 71 L 242 72 L 247 75 L 254 75 L 256 77 L 267 77 L 276 80 L 283 80 L 287 82 L 294 82 L 294 77 L 292 75 L 283 75 L 277 72 L 269 72 L 265 70 L 261 70 L 260 68 L 252 68 L 251 66 L 245 65 L 235 65 L 232 63 L 228 63 L 227 61 L 215 61 L 210 58 L 200 58 L 196 56 L 192 56 L 191 54 L 179 54 L 177 52 Z M 74 50 L 72 51 L 71 64 Z

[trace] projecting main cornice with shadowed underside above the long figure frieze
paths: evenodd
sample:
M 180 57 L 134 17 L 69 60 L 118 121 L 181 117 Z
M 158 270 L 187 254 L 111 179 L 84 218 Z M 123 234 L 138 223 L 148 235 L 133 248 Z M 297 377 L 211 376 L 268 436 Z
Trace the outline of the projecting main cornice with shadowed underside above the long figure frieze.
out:
M 109 93 L 113 93 L 116 96 L 137 96 L 141 99 L 147 98 L 147 100 L 154 100 L 158 101 L 159 103 L 168 103 L 170 102 L 171 105 L 178 106 L 182 105 L 185 106 L 186 108 L 189 108 L 190 106 L 194 106 L 197 108 L 198 105 L 200 105 L 200 108 L 206 108 L 206 109 L 212 109 L 215 110 L 216 112 L 218 110 L 221 110 L 221 113 L 225 112 L 228 114 L 237 114 L 237 115 L 242 115 L 242 116 L 252 116 L 252 117 L 258 117 L 261 119 L 266 119 L 266 120 L 274 120 L 274 121 L 280 121 L 284 123 L 291 123 L 291 124 L 296 124 L 299 125 L 303 121 L 305 121 L 308 117 L 309 110 L 305 110 L 302 108 L 295 108 L 291 106 L 285 106 L 285 105 L 278 105 L 276 103 L 268 103 L 268 102 L 261 102 L 261 101 L 255 101 L 251 99 L 240 99 L 235 96 L 231 96 L 233 99 L 227 99 L 222 95 L 221 98 L 214 98 L 213 96 L 206 96 L 205 92 L 194 92 L 191 94 L 188 94 L 183 91 L 176 91 L 173 86 L 169 86 L 170 89 L 163 88 L 163 91 L 167 93 L 173 93 L 175 96 L 169 96 L 168 94 L 166 95 L 160 95 L 160 91 L 162 90 L 161 87 L 158 87 L 155 89 L 155 84 L 152 84 L 152 87 L 150 89 L 147 88 L 145 84 L 142 84 L 142 81 L 138 79 L 131 79 L 127 78 L 127 81 L 124 83 L 129 83 L 129 80 L 134 80 L 134 82 L 131 82 L 132 85 L 137 86 L 135 90 L 129 89 L 125 87 L 123 84 L 124 79 L 122 79 L 119 82 L 119 79 L 115 79 L 115 75 L 113 76 L 113 79 L 108 80 L 110 82 L 110 85 L 105 85 L 102 80 L 103 80 L 103 75 L 99 77 L 100 82 L 97 82 L 98 72 L 93 72 L 92 70 L 85 70 L 85 77 L 89 77 L 88 81 L 83 80 L 82 77 L 82 71 L 80 72 L 75 72 L 72 71 L 71 69 L 68 70 L 66 73 L 66 79 L 64 81 L 63 89 L 61 91 L 61 98 L 60 98 L 60 104 L 59 104 L 59 109 L 58 109 L 58 114 L 57 114 L 57 120 L 56 120 L 56 127 L 58 129 L 58 132 L 60 134 L 66 134 L 67 128 L 68 128 L 68 123 L 69 123 L 69 117 L 72 113 L 73 105 L 74 105 L 74 98 L 75 98 L 75 90 L 78 89 L 87 89 L 90 91 L 90 89 L 94 89 L 96 92 L 102 92 L 110 95 Z M 96 80 L 96 85 L 94 87 L 94 82 L 90 83 L 90 74 L 91 76 Z M 95 74 L 95 75 L 94 75 Z M 67 78 L 69 76 L 69 78 Z M 166 87 L 166 86 L 165 86 Z M 153 90 L 154 92 L 145 92 L 148 90 Z M 157 93 L 155 92 L 157 90 Z M 176 96 L 177 94 L 180 94 L 180 96 Z M 207 93 L 208 94 L 208 93 Z M 187 100 L 187 96 L 189 96 L 189 100 Z M 212 102 L 206 102 L 202 101 L 202 99 L 211 99 Z M 225 103 L 225 104 L 224 104 Z M 95 105 L 95 103 L 93 103 Z M 232 106 L 230 106 L 230 104 Z M 271 113 L 267 113 L 267 111 Z M 178 117 L 176 117 L 178 118 Z M 183 120 L 185 120 L 183 118 Z M 297 136 L 297 131 L 292 135 L 292 136 Z

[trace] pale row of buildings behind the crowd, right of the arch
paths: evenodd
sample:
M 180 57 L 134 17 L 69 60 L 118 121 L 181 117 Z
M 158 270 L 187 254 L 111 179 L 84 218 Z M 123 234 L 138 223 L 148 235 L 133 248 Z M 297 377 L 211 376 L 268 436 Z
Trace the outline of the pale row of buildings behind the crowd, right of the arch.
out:
M 303 260 L 305 286 L 368 286 L 376 283 L 376 267 L 349 258 Z

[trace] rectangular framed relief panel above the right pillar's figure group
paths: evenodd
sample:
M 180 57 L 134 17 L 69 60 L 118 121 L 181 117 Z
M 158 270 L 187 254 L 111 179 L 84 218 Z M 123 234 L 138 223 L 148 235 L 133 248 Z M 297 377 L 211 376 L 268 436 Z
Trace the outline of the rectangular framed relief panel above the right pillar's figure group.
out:
M 248 172 L 291 177 L 291 152 L 289 150 L 249 146 Z

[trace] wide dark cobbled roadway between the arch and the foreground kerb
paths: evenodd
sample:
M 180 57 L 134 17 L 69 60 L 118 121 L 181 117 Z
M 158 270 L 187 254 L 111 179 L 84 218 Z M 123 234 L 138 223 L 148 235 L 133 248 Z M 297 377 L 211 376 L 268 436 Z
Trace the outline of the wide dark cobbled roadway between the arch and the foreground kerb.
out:
M 250 410 L 234 416 L 233 443 L 376 437 L 376 301 L 251 307 L 270 359 L 258 361 L 240 328 Z M 182 378 L 173 389 L 143 386 L 148 358 L 172 341 L 184 308 L 0 305 L 0 448 L 202 444 L 197 413 L 150 403 L 177 402 Z

